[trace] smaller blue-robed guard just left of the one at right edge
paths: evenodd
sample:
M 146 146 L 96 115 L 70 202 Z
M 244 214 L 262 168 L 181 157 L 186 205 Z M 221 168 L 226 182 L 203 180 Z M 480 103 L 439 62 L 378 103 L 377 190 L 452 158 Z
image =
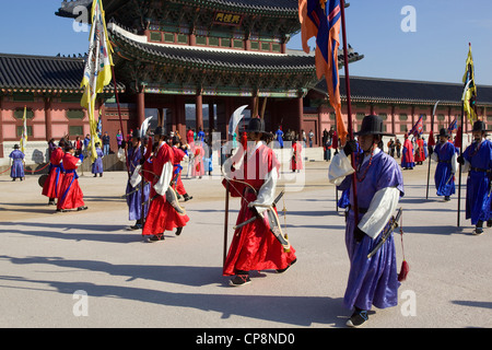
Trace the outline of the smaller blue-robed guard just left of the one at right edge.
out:
M 446 128 L 440 130 L 440 143 L 429 150 L 433 161 L 437 162 L 434 174 L 437 196 L 444 196 L 444 200 L 450 200 L 455 194 L 455 174 L 457 171 L 458 149 L 449 142 L 449 132 Z

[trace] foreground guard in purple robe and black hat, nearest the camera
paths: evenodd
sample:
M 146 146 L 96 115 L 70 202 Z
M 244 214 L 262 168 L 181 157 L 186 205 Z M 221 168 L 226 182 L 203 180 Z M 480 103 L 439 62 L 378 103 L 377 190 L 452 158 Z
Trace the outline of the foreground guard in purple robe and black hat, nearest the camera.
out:
M 371 257 L 382 240 L 382 232 L 395 214 L 399 198 L 403 196 L 403 177 L 395 159 L 378 147 L 383 136 L 383 119 L 366 116 L 362 121 L 356 152 L 355 141 L 345 147 L 331 161 L 329 180 L 339 190 L 350 189 L 350 210 L 347 218 L 345 246 L 350 259 L 350 272 L 343 305 L 353 310 L 347 325 L 362 326 L 372 306 L 386 308 L 398 304 L 397 258 L 393 234 Z M 394 137 L 394 136 L 393 136 Z M 355 156 L 352 168 L 350 155 Z M 354 174 L 355 173 L 355 174 Z M 355 225 L 352 174 L 356 177 L 359 220 Z

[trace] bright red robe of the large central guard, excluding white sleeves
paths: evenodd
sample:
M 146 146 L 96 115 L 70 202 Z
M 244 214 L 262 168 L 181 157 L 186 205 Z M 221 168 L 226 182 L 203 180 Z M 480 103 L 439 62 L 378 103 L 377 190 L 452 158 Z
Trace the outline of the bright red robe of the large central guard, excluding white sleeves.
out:
M 271 173 L 273 167 L 279 171 L 280 163 L 273 151 L 265 144 L 261 144 L 249 159 L 248 153 L 245 154 L 242 167 L 235 176 L 241 183 L 233 179 L 229 187 L 232 197 L 242 197 L 236 224 L 253 217 L 248 203 L 257 199 L 257 194 L 265 184 L 267 174 Z M 242 176 L 243 174 L 244 176 Z M 225 179 L 223 184 L 226 185 Z M 232 276 L 237 271 L 284 269 L 294 259 L 294 248 L 291 247 L 289 253 L 284 252 L 280 242 L 269 231 L 268 222 L 258 219 L 234 232 L 223 275 Z

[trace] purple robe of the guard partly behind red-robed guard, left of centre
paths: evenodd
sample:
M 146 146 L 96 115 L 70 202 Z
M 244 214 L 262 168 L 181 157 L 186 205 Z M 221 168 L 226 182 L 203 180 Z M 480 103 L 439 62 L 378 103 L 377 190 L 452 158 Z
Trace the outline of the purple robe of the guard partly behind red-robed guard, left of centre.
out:
M 140 164 L 140 159 L 142 158 L 140 148 L 130 148 L 128 150 L 128 159 L 130 166 L 130 174 L 133 174 L 136 167 Z M 143 176 L 142 176 L 143 178 Z M 138 184 L 136 187 L 130 185 L 130 180 L 127 184 L 127 205 L 129 212 L 129 220 L 140 220 L 142 218 L 142 184 Z M 134 191 L 136 189 L 139 189 Z M 131 192 L 131 195 L 129 195 Z M 147 217 L 149 210 L 149 194 L 150 184 L 145 183 L 143 186 L 143 201 L 147 203 L 144 206 L 144 215 Z

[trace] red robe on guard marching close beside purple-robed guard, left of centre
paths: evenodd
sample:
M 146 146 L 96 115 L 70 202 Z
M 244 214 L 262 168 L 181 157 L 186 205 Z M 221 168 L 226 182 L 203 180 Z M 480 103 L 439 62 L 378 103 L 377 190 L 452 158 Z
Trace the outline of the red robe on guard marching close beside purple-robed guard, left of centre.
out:
M 176 228 L 184 228 L 189 221 L 187 214 L 178 214 L 176 210 L 168 202 L 166 202 L 165 196 L 159 196 L 154 189 L 154 185 L 159 182 L 159 178 L 163 173 L 164 165 L 169 162 L 171 167 L 173 167 L 173 150 L 167 143 L 164 142 L 156 151 L 152 160 L 154 179 L 151 187 L 150 198 L 153 200 L 149 208 L 142 235 L 160 235 L 163 234 L 164 231 L 173 231 Z

